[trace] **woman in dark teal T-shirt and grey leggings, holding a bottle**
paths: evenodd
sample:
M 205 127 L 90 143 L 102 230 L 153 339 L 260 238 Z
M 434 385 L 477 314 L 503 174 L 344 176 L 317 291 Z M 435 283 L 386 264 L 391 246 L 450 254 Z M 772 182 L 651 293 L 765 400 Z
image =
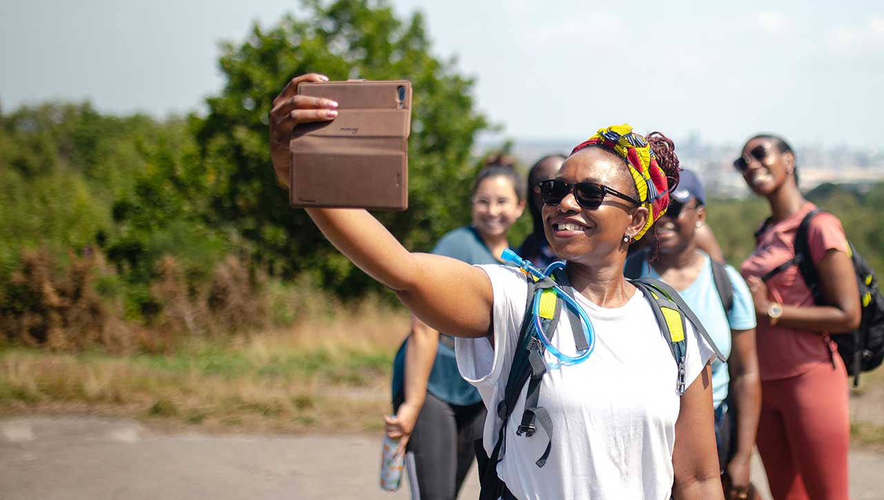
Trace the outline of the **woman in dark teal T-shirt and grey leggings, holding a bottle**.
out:
M 432 250 L 468 264 L 499 264 L 509 247 L 507 231 L 525 201 L 524 188 L 509 164 L 489 164 L 476 176 L 472 223 L 447 233 Z M 412 331 L 393 362 L 395 417 L 386 433 L 400 438 L 400 451 L 414 453 L 422 500 L 453 499 L 476 457 L 473 442 L 482 436 L 485 407 L 478 390 L 461 378 L 454 341 L 412 318 Z

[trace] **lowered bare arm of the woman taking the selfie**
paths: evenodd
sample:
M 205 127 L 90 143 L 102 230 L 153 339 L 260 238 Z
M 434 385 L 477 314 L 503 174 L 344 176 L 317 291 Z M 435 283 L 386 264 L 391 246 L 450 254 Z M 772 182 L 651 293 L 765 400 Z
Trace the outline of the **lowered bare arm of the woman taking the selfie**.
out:
M 675 420 L 672 466 L 676 500 L 723 500 L 715 451 L 713 384 L 709 365 L 682 395 L 682 407 Z

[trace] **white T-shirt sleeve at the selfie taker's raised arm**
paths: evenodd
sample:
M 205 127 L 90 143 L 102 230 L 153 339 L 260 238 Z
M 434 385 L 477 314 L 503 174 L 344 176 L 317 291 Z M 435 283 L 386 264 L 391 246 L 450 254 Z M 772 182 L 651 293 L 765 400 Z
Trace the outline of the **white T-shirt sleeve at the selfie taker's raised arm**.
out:
M 494 385 L 501 376 L 509 376 L 525 314 L 528 282 L 518 268 L 497 264 L 478 267 L 492 282 L 494 346 L 488 337 L 455 338 L 454 352 L 463 379 L 481 388 Z

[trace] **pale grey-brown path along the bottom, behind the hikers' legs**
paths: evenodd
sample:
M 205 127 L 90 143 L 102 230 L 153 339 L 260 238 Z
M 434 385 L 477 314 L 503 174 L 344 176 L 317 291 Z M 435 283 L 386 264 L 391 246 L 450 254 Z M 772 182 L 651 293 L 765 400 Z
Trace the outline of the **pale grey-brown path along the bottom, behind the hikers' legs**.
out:
M 371 436 L 167 435 L 130 420 L 0 420 L 5 500 L 392 500 L 377 487 Z M 881 498 L 884 453 L 852 451 L 852 498 Z M 755 464 L 756 481 L 763 473 Z M 761 482 L 761 481 L 757 481 Z M 478 496 L 476 475 L 461 498 Z

